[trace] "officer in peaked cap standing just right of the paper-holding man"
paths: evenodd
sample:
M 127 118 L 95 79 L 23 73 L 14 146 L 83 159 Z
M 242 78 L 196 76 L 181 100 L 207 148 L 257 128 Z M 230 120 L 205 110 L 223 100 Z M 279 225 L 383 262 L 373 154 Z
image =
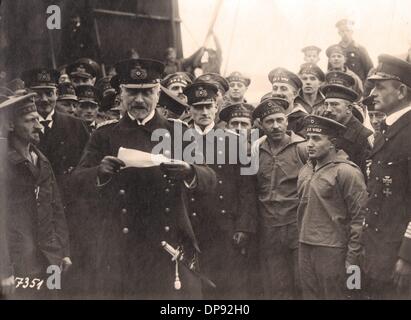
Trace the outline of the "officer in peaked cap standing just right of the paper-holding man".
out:
M 216 126 L 215 85 L 197 82 L 188 86 L 184 93 L 194 121 L 191 130 L 195 141 L 202 147 L 200 152 L 217 176 L 217 187 L 209 196 L 190 197 L 190 218 L 199 236 L 201 268 L 217 286 L 214 289 L 204 286 L 204 298 L 245 299 L 249 277 L 246 246 L 256 225 L 253 178 L 242 174 L 239 154 L 247 156 L 247 139 Z M 227 111 L 223 109 L 221 120 L 230 120 L 230 110 L 230 107 Z M 241 112 L 247 118 L 251 116 L 249 110 Z M 235 161 L 230 162 L 233 155 Z

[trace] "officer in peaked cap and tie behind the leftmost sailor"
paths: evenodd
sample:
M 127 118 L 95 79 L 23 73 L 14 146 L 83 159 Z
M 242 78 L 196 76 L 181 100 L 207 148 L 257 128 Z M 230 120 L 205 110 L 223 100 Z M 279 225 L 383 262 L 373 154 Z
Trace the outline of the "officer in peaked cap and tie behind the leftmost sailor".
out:
M 79 248 L 87 243 L 80 235 L 86 233 L 84 230 L 87 230 L 87 226 L 83 222 L 89 212 L 79 206 L 80 195 L 72 185 L 71 172 L 80 161 L 89 134 L 86 125 L 81 120 L 55 110 L 57 71 L 45 68 L 28 70 L 22 74 L 22 79 L 27 88 L 37 93 L 36 106 L 42 124 L 38 148 L 50 161 L 56 176 L 71 235 L 70 247 L 75 265 L 63 279 L 67 281 L 63 285 L 63 290 L 67 291 L 72 286 L 85 283 L 84 280 L 75 282 L 72 274 L 78 273 L 77 266 L 82 263 L 76 260 L 81 260 Z M 78 276 L 81 277 L 81 275 Z

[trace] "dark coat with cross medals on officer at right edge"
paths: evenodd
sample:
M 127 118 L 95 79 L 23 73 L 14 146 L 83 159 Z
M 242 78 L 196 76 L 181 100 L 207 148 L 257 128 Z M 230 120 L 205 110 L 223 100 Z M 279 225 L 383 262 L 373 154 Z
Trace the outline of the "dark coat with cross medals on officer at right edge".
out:
M 371 295 L 394 297 L 399 258 L 411 263 L 411 111 L 375 140 L 364 208 L 364 272 Z M 409 298 L 409 296 L 408 296 Z

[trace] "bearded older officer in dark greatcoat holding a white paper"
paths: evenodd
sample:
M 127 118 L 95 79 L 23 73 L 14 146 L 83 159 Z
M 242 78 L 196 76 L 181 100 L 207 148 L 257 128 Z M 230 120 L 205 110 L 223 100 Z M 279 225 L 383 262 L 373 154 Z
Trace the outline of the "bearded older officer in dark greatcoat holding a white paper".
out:
M 186 189 L 207 192 L 215 187 L 214 172 L 184 161 L 120 170 L 120 147 L 151 153 L 161 135 L 182 141 L 181 123 L 163 118 L 156 105 L 164 65 L 131 59 L 116 65 L 126 114 L 108 130 L 96 130 L 75 170 L 84 192 L 99 192 L 105 221 L 99 259 L 100 293 L 112 298 L 201 298 L 200 281 L 180 260 L 162 248 L 183 252 L 196 270 L 198 245 L 186 209 Z M 101 128 L 103 129 L 103 128 Z M 178 158 L 172 146 L 163 149 Z M 180 255 L 181 257 L 181 255 Z

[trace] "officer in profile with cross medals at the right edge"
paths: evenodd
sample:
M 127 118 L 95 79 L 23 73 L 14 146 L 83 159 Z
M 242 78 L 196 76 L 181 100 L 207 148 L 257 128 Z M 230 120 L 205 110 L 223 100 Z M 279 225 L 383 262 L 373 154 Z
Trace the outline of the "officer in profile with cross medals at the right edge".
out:
M 411 298 L 411 64 L 381 55 L 375 109 L 385 112 L 371 152 L 364 272 L 374 299 Z

